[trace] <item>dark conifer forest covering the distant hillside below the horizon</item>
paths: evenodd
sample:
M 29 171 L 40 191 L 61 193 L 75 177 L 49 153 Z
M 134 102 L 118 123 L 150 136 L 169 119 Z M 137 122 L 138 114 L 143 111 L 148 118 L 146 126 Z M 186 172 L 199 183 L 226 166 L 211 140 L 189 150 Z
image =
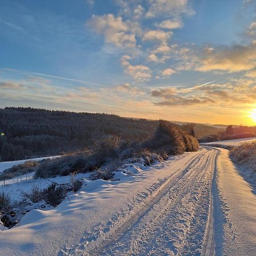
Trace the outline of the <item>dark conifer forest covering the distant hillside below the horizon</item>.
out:
M 159 121 L 123 118 L 113 114 L 33 108 L 0 109 L 0 160 L 82 151 L 106 137 L 142 142 L 154 134 L 158 125 Z M 223 130 L 200 124 L 193 126 L 196 137 Z

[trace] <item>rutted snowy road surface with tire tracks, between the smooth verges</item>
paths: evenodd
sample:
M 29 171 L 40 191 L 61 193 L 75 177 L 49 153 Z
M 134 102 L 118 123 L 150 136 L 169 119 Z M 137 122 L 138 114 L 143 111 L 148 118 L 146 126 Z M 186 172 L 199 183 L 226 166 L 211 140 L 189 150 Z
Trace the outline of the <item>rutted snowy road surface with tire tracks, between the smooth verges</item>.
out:
M 209 211 L 211 192 L 214 209 L 220 207 L 215 198 L 218 195 L 217 184 L 214 185 L 216 159 L 216 150 L 205 148 L 179 171 L 180 175 L 170 177 L 164 188 L 161 187 L 137 214 L 88 247 L 88 254 L 155 255 L 162 252 L 162 255 L 201 255 L 207 228 L 205 217 L 212 212 L 212 209 Z M 200 214 L 202 210 L 204 213 Z M 219 210 L 216 213 L 213 210 L 213 216 L 217 217 L 218 213 Z M 208 229 L 212 230 L 211 226 Z M 216 249 L 221 251 L 223 234 L 221 224 L 216 221 L 214 231 L 217 232 L 214 235 Z M 208 237 L 212 239 L 212 236 Z

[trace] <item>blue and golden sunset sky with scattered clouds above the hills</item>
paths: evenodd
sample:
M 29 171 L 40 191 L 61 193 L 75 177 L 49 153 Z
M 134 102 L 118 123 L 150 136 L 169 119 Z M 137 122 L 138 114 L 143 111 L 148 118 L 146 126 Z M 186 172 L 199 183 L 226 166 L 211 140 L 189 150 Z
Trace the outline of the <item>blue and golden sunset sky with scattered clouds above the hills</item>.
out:
M 256 125 L 256 0 L 0 0 L 0 108 Z

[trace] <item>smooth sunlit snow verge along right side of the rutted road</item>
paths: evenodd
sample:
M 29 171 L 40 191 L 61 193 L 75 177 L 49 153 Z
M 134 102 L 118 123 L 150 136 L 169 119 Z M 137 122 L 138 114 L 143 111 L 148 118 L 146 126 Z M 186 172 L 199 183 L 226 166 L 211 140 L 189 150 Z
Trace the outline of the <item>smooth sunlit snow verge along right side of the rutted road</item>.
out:
M 217 167 L 225 213 L 224 255 L 255 255 L 256 195 L 229 159 L 229 151 L 220 148 L 220 153 Z

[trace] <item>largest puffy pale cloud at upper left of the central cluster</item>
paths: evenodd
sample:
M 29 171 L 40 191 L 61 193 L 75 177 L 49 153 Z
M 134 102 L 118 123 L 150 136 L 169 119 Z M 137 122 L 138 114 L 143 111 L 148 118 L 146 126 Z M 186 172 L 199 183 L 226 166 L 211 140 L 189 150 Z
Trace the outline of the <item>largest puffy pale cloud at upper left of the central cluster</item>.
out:
M 121 16 L 115 18 L 113 14 L 93 15 L 86 24 L 98 34 L 104 35 L 107 43 L 127 48 L 136 46 L 135 35 L 129 32 L 129 26 L 123 22 Z

